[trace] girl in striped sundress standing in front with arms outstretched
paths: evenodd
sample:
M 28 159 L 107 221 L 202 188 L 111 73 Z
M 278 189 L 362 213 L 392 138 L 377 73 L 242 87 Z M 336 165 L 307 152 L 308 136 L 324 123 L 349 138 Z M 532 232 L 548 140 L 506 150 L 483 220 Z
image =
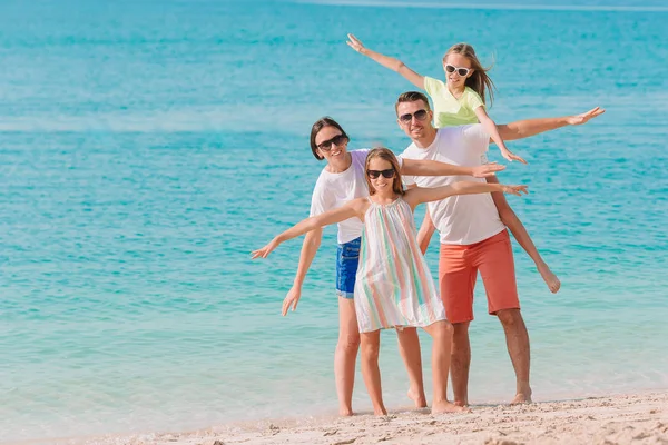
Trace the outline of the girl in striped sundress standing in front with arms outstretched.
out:
M 527 186 L 460 181 L 404 191 L 396 157 L 386 148 L 375 148 L 369 154 L 365 171 L 370 197 L 304 219 L 253 251 L 253 258 L 266 258 L 281 243 L 310 230 L 358 217 L 364 221 L 364 233 L 354 299 L 362 343 L 362 376 L 374 413 L 387 414 L 379 369 L 380 330 L 405 326 L 422 327 L 433 337 L 432 413 L 465 411 L 446 398 L 452 326 L 445 319 L 443 304 L 418 246 L 413 210 L 419 204 L 453 195 L 493 191 L 520 195 L 527 192 Z

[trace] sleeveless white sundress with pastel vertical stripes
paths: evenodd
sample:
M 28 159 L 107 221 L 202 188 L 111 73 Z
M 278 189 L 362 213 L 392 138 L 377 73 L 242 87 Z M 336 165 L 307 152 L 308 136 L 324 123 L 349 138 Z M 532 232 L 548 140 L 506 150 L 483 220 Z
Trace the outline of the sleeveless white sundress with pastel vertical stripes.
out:
M 401 197 L 387 205 L 369 201 L 355 281 L 360 332 L 444 320 L 443 303 L 418 246 L 411 206 Z

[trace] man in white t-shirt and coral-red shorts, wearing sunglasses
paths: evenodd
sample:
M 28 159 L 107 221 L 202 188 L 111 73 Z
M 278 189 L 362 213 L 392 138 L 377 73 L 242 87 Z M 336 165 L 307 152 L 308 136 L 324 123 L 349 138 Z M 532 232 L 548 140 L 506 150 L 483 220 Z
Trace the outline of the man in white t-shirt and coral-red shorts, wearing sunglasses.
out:
M 416 91 L 401 95 L 395 110 L 399 126 L 413 140 L 401 155 L 403 159 L 439 160 L 463 166 L 487 162 L 490 135 L 481 125 L 435 129 L 429 100 Z M 513 140 L 567 125 L 584 123 L 603 111 L 595 108 L 579 116 L 525 120 L 498 126 L 498 129 L 504 140 Z M 473 179 L 456 176 L 403 178 L 409 187 L 438 187 L 464 178 Z M 488 180 L 497 181 L 495 178 Z M 503 326 L 508 352 L 514 367 L 517 393 L 511 403 L 531 403 L 529 335 L 520 313 L 512 248 L 504 222 L 522 247 L 529 244 L 533 246 L 529 234 L 508 206 L 503 195 L 451 197 L 430 202 L 428 208 L 425 227 L 421 228 L 419 243 L 425 250 L 434 229 L 439 229 L 441 298 L 448 319 L 454 326 L 451 364 L 454 403 L 460 406 L 469 404 L 469 325 L 473 320 L 473 287 L 478 270 L 487 291 L 489 313 L 495 315 Z M 500 214 L 503 217 L 500 217 Z

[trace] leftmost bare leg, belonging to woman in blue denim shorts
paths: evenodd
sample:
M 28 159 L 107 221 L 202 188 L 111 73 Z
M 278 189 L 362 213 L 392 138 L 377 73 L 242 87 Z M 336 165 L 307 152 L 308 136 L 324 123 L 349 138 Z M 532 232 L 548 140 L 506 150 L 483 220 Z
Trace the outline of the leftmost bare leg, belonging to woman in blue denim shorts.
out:
M 334 376 L 338 396 L 338 414 L 353 415 L 355 359 L 360 349 L 360 332 L 352 298 L 338 297 L 338 343 L 334 353 Z

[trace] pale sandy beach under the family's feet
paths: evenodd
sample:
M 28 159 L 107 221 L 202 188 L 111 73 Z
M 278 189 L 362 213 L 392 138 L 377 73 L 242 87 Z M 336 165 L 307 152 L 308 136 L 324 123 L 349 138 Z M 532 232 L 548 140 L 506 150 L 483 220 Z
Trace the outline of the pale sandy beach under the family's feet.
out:
M 200 432 L 107 437 L 88 444 L 664 444 L 668 393 L 524 406 L 473 406 L 470 414 L 311 418 L 234 424 Z

